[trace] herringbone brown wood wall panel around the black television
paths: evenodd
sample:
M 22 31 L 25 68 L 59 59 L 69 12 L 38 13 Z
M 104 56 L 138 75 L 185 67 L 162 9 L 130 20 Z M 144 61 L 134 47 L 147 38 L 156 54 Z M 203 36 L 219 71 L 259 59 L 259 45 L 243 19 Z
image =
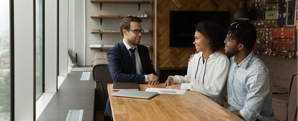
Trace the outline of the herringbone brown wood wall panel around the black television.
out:
M 240 1 L 242 0 L 157 0 L 157 2 L 152 0 L 152 8 L 157 4 L 156 40 L 153 38 L 155 32 L 152 32 L 152 47 L 155 46 L 155 41 L 157 42 L 157 67 L 187 67 L 189 55 L 196 51 L 195 47 L 169 47 L 170 11 L 230 11 L 230 22 L 232 22 Z M 152 14 L 152 21 L 154 19 Z M 152 30 L 154 29 L 152 27 Z M 152 49 L 152 60 L 154 60 L 154 48 Z

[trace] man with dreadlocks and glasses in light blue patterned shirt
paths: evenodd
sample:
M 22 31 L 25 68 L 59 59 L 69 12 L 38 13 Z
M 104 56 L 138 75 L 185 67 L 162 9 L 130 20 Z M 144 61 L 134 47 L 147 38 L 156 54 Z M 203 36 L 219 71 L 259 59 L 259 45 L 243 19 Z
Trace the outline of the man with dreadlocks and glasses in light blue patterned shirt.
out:
M 247 21 L 236 21 L 224 40 L 230 58 L 227 110 L 246 121 L 272 121 L 272 80 L 267 66 L 252 51 L 256 29 Z

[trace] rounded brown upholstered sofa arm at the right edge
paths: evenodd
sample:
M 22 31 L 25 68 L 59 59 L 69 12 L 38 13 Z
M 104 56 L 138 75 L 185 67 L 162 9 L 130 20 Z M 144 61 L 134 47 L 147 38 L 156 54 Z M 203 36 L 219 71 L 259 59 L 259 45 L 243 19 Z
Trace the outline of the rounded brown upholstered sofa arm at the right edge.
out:
M 297 73 L 293 74 L 289 89 L 289 100 L 287 103 L 287 121 L 297 121 Z

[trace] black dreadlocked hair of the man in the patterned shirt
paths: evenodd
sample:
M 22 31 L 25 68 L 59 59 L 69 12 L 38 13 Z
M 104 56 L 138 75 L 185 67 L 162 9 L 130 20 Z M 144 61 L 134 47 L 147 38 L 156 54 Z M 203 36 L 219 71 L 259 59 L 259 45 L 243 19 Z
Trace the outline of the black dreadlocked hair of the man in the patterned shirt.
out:
M 248 50 L 252 50 L 257 40 L 257 32 L 254 26 L 248 21 L 235 21 L 226 29 L 228 38 L 241 43 Z

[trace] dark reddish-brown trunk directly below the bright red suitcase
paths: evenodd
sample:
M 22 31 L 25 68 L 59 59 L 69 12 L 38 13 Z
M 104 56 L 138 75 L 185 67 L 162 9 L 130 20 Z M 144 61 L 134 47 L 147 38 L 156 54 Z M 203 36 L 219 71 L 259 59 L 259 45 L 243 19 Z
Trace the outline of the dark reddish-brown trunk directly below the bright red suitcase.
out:
M 272 49 L 273 50 L 284 50 L 284 51 L 295 51 L 295 40 L 294 39 L 273 39 Z

